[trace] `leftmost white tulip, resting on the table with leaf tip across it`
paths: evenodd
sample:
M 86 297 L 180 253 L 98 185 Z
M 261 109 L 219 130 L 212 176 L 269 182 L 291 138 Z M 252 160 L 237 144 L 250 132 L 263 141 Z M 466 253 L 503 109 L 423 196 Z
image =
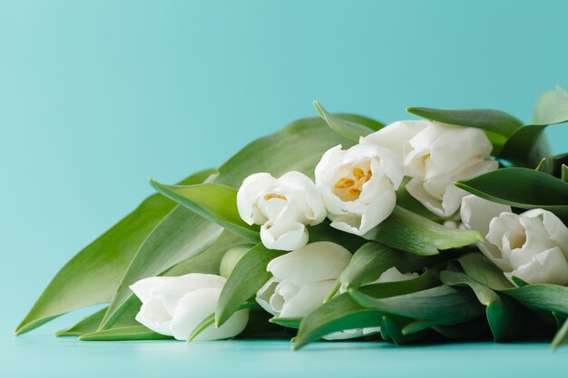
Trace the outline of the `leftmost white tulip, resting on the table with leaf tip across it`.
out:
M 158 334 L 187 340 L 191 332 L 215 312 L 225 281 L 224 277 L 201 273 L 144 278 L 130 286 L 142 301 L 136 320 Z M 236 336 L 248 321 L 249 310 L 240 310 L 219 328 L 211 325 L 194 340 Z

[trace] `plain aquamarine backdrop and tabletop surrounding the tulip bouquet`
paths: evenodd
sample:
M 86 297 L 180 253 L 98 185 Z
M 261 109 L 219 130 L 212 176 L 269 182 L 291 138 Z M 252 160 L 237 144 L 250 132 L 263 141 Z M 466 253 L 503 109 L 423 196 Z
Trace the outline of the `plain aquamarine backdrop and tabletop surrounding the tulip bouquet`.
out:
M 217 166 L 314 115 L 315 99 L 381 121 L 408 106 L 528 121 L 541 92 L 568 86 L 567 14 L 562 0 L 0 1 L 0 375 L 565 374 L 568 348 L 547 344 L 290 354 L 287 343 L 49 336 L 84 311 L 12 331 L 66 260 L 152 193 L 149 176 Z M 568 150 L 568 128 L 549 136 Z

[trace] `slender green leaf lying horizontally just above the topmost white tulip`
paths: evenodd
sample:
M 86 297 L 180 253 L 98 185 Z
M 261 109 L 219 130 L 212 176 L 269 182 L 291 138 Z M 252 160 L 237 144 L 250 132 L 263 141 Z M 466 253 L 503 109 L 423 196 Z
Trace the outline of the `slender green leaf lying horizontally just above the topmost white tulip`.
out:
M 431 108 L 408 108 L 411 114 L 426 120 L 449 123 L 452 125 L 475 127 L 496 134 L 511 136 L 515 130 L 523 126 L 523 122 L 504 111 L 488 109 L 444 110 Z

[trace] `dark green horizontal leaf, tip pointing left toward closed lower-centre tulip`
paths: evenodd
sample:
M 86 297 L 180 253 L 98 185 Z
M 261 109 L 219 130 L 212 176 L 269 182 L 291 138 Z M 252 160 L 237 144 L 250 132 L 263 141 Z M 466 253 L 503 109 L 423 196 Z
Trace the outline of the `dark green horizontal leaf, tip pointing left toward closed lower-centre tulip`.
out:
M 484 307 L 469 291 L 451 286 L 436 286 L 402 296 L 375 298 L 361 291 L 349 290 L 359 305 L 379 312 L 416 319 L 436 320 L 439 324 L 453 325 L 472 320 L 484 314 Z

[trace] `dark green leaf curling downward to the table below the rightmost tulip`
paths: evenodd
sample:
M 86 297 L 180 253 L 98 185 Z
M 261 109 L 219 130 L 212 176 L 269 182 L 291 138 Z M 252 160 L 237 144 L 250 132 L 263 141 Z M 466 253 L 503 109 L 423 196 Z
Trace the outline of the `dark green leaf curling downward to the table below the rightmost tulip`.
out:
M 443 271 L 440 278 L 449 286 L 469 286 L 482 305 L 496 342 L 521 339 L 531 334 L 534 314 L 511 298 L 500 296 L 487 286 L 459 272 Z

